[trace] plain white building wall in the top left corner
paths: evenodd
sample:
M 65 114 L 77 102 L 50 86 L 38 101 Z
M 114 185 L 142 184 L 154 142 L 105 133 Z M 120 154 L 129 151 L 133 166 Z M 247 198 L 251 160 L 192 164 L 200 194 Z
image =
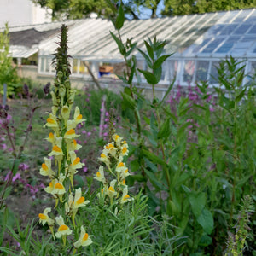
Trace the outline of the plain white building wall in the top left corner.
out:
M 31 0 L 0 0 L 0 27 L 7 21 L 9 26 L 22 26 L 50 22 L 50 17 Z

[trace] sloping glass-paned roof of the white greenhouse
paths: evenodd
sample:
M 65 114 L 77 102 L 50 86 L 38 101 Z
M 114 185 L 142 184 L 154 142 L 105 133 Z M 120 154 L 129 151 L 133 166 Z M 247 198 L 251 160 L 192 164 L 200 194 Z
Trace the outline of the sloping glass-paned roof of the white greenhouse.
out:
M 109 31 L 114 32 L 110 20 L 84 19 L 65 22 L 69 26 L 68 47 L 73 57 L 87 61 L 121 61 L 119 49 Z M 55 51 L 56 38 L 61 22 L 38 26 L 10 28 L 15 32 L 33 32 L 39 55 L 51 55 Z M 256 9 L 241 9 L 203 15 L 183 15 L 149 20 L 125 20 L 121 29 L 122 38 L 133 38 L 137 47 L 143 49 L 143 40 L 154 38 L 166 40 L 166 53 L 175 53 L 171 58 L 200 57 L 224 58 L 226 55 L 256 57 Z M 40 36 L 39 36 L 40 35 Z M 44 36 L 45 37 L 44 37 Z M 41 37 L 41 38 L 39 38 Z M 38 38 L 38 40 L 36 39 Z M 19 39 L 19 37 L 18 37 Z M 20 46 L 27 47 L 26 37 L 20 36 Z M 20 46 L 12 45 L 18 55 Z M 136 54 L 136 52 L 135 52 Z M 15 56 L 14 55 L 14 56 Z

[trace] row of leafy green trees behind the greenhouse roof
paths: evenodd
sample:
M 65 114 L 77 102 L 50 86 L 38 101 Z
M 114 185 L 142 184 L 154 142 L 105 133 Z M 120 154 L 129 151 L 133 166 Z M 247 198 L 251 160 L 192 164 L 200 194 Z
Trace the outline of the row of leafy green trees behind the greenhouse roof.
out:
M 163 0 L 164 9 L 160 15 L 191 15 L 253 8 L 256 0 Z M 53 20 L 82 19 L 96 13 L 99 17 L 113 18 L 114 9 L 119 8 L 119 0 L 32 0 L 33 3 L 52 11 Z M 141 15 L 148 18 L 157 16 L 161 0 L 125 0 L 122 1 L 125 17 L 140 19 Z M 148 11 L 145 12 L 145 9 Z

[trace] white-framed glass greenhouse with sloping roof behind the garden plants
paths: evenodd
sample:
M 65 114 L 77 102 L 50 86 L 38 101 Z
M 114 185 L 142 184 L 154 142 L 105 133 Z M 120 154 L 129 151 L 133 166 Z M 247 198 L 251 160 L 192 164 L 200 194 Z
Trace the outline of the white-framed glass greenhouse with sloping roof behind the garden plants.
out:
M 35 30 L 56 29 L 61 23 L 33 26 Z M 100 78 L 101 67 L 113 66 L 122 62 L 119 49 L 109 31 L 114 32 L 110 20 L 84 19 L 67 22 L 69 26 L 69 50 L 73 56 L 73 77 L 90 80 L 90 71 Z M 17 29 L 17 28 L 16 28 Z M 25 27 L 22 27 L 24 30 Z M 12 30 L 10 29 L 12 32 Z M 55 34 L 55 33 L 53 33 Z M 241 65 L 246 65 L 247 80 L 251 79 L 256 68 L 256 9 L 208 13 L 203 15 L 183 15 L 149 20 L 126 20 L 121 30 L 123 40 L 133 38 L 137 47 L 144 49 L 143 40 L 154 38 L 166 40 L 166 53 L 172 54 L 164 64 L 160 84 L 170 84 L 176 78 L 176 84 L 194 85 L 207 80 L 216 84 L 215 76 L 218 62 L 232 55 Z M 18 46 L 13 54 L 18 54 Z M 38 50 L 38 73 L 54 75 L 51 65 L 55 49 L 55 36 L 41 40 Z M 35 53 L 35 50 L 32 50 Z M 138 51 L 137 66 L 147 68 Z M 13 55 L 15 57 L 15 55 Z M 27 57 L 27 55 L 26 55 Z M 110 70 L 110 69 L 109 69 Z M 106 72 L 105 74 L 111 74 Z M 106 76 L 104 76 L 106 77 Z M 114 75 L 108 77 L 116 79 Z M 101 78 L 102 79 L 102 78 Z M 137 82 L 137 80 L 135 80 Z M 143 80 L 141 83 L 144 84 Z

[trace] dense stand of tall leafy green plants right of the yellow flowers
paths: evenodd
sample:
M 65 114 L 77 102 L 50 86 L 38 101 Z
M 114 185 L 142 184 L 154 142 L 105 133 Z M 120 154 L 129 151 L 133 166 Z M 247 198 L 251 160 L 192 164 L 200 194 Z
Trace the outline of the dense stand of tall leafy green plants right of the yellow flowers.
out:
M 124 49 L 118 34 L 118 40 L 114 39 L 119 49 Z M 137 169 L 131 183 L 136 178 L 143 183 L 150 214 L 172 216 L 175 234 L 183 236 L 174 255 L 219 255 L 241 198 L 256 192 L 249 182 L 256 178 L 252 146 L 256 139 L 255 90 L 242 85 L 245 66 L 230 57 L 218 67 L 219 87 L 213 88 L 211 95 L 214 105 L 208 101 L 211 91 L 205 83 L 198 86 L 200 102 L 193 104 L 189 97 L 182 97 L 174 106 L 166 106 L 154 92 L 161 65 L 169 57 L 162 55 L 165 42 L 154 38 L 144 44 L 147 51 L 138 51 L 148 68 L 138 72 L 152 85 L 153 99 L 145 99 L 128 82 L 128 72 L 122 77 L 130 85 L 122 93 L 123 102 L 137 119 L 135 127 L 130 127 L 130 140 L 136 145 L 130 152 L 131 163 L 133 170 Z M 126 63 L 136 61 L 125 51 L 121 54 Z

